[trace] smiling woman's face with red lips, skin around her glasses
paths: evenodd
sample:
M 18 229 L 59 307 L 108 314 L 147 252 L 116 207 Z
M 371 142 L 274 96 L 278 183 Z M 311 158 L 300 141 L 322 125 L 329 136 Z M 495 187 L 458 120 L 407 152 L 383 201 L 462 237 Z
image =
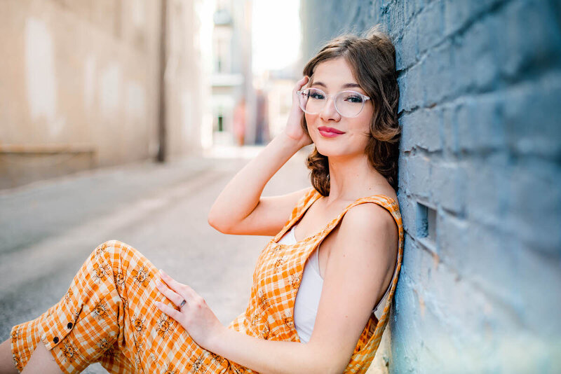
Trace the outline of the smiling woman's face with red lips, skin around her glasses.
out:
M 320 113 L 304 113 L 308 132 L 318 152 L 330 158 L 364 155 L 370 138 L 370 121 L 374 113 L 372 99 L 366 100 L 363 110 L 353 118 L 343 117 L 337 113 L 333 101 L 334 95 L 344 90 L 353 90 L 366 95 L 366 92 L 358 87 L 358 82 L 353 77 L 351 67 L 346 60 L 339 57 L 318 64 L 309 87 L 319 88 L 327 95 L 332 95 Z M 325 127 L 332 127 L 343 134 L 333 136 L 332 132 L 322 131 L 326 130 Z

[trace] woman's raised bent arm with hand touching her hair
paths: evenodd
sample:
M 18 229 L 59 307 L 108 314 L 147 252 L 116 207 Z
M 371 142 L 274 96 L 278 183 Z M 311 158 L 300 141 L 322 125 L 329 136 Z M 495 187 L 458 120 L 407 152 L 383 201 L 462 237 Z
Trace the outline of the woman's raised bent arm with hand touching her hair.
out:
M 218 195 L 208 214 L 208 223 L 222 233 L 240 235 L 275 235 L 292 212 L 304 190 L 287 195 L 262 198 L 266 183 L 300 148 L 311 144 L 302 130 L 302 109 L 296 91 L 292 91 L 292 109 L 285 131 L 267 144 L 263 151 L 248 162 Z

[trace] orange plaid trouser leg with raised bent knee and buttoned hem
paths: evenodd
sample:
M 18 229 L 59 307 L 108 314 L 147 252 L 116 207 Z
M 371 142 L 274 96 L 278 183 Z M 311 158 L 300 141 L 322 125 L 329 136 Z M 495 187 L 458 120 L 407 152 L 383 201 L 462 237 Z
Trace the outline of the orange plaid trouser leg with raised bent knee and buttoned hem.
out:
M 100 361 L 110 373 L 222 373 L 229 362 L 205 351 L 154 305 L 172 305 L 156 289 L 157 269 L 133 247 L 111 240 L 83 263 L 65 296 L 33 321 L 13 326 L 19 370 L 43 342 L 61 370 Z

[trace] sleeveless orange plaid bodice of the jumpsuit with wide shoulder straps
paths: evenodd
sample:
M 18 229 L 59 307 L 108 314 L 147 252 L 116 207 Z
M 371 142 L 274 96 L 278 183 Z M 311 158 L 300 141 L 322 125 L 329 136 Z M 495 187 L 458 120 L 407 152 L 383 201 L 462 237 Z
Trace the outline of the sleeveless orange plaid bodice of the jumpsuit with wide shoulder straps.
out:
M 316 189 L 309 188 L 297 202 L 296 207 L 292 209 L 290 218 L 285 223 L 285 226 L 266 244 L 261 254 L 259 254 L 253 272 L 253 284 L 248 307 L 245 312 L 231 322 L 228 326 L 229 328 L 241 331 L 255 338 L 300 342 L 294 326 L 294 305 L 299 284 L 302 280 L 304 264 L 313 250 L 337 226 L 344 214 L 356 205 L 373 202 L 387 209 L 393 216 L 393 219 L 396 220 L 399 231 L 399 244 L 398 264 L 395 272 L 396 275 L 399 274 L 403 258 L 403 223 L 398 202 L 384 195 L 360 198 L 348 205 L 343 212 L 334 217 L 318 233 L 306 237 L 295 244 L 279 244 L 278 240 L 302 218 L 306 210 L 321 196 Z M 366 373 L 370 363 L 372 363 L 374 354 L 376 354 L 380 344 L 381 335 L 388 324 L 391 302 L 397 283 L 398 276 L 394 276 L 379 321 L 374 314 L 371 314 L 370 319 L 363 328 L 363 332 L 358 338 L 351 360 L 345 368 L 345 373 Z M 239 366 L 234 362 L 231 365 L 234 366 L 234 371 L 254 373 L 249 368 Z

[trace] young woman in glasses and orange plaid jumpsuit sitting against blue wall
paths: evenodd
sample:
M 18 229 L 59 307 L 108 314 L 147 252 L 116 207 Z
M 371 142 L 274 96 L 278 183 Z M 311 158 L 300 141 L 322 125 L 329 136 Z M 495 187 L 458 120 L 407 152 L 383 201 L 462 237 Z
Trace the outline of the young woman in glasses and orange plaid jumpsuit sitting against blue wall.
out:
M 78 373 L 100 361 L 110 373 L 364 373 L 403 254 L 390 39 L 374 27 L 364 38 L 330 41 L 292 97 L 284 132 L 234 176 L 208 216 L 222 233 L 274 235 L 245 312 L 222 326 L 193 289 L 111 240 L 58 304 L 13 326 L 0 370 Z M 312 186 L 262 197 L 271 176 L 311 143 Z

